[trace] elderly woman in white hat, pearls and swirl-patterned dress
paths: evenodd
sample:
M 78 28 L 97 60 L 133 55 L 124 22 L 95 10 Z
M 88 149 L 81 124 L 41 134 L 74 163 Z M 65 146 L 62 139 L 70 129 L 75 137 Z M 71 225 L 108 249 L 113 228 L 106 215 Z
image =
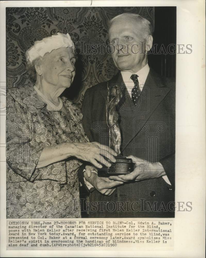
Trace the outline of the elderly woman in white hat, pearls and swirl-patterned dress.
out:
M 113 150 L 88 142 L 81 111 L 60 97 L 75 76 L 73 49 L 69 34 L 35 42 L 26 52 L 35 84 L 7 91 L 7 218 L 80 217 L 81 161 L 115 161 Z

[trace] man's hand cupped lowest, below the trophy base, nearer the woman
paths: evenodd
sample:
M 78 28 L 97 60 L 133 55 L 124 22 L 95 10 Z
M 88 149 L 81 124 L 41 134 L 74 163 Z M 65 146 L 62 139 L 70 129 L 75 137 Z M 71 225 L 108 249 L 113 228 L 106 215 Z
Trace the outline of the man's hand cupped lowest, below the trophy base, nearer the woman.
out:
M 121 181 L 114 181 L 109 178 L 98 177 L 97 169 L 87 165 L 84 172 L 85 179 L 104 195 L 111 195 L 116 186 L 123 184 Z

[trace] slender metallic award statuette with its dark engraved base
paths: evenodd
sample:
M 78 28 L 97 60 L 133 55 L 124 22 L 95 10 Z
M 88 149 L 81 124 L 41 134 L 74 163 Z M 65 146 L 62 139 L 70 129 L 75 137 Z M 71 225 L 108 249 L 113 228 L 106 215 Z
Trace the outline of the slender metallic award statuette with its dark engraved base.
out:
M 118 104 L 121 99 L 120 88 L 117 84 L 108 87 L 108 110 L 107 110 L 107 123 L 109 127 L 109 147 L 115 150 L 118 154 L 116 162 L 112 162 L 111 167 L 98 169 L 98 176 L 113 176 L 129 174 L 134 170 L 134 163 L 132 159 L 121 156 L 120 144 L 121 144 L 121 132 L 118 123 L 119 112 Z

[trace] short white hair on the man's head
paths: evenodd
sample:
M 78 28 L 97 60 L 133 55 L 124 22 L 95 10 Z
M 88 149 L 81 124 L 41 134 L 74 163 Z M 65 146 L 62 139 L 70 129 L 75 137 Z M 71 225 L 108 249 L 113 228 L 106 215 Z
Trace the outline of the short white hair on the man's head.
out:
M 119 18 L 134 19 L 136 22 L 140 23 L 142 27 L 141 33 L 144 39 L 146 39 L 149 35 L 152 35 L 153 33 L 153 27 L 151 23 L 147 19 L 136 13 L 122 13 L 117 15 L 109 21 L 109 28 L 111 27 L 112 23 Z

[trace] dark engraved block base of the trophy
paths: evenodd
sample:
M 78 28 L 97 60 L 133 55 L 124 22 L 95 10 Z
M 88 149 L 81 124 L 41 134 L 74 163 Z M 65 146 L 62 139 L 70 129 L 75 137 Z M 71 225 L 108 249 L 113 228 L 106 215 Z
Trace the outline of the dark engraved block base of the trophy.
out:
M 118 156 L 116 162 L 112 162 L 111 167 L 103 167 L 98 169 L 98 176 L 109 177 L 129 174 L 134 170 L 134 163 L 132 159 Z

